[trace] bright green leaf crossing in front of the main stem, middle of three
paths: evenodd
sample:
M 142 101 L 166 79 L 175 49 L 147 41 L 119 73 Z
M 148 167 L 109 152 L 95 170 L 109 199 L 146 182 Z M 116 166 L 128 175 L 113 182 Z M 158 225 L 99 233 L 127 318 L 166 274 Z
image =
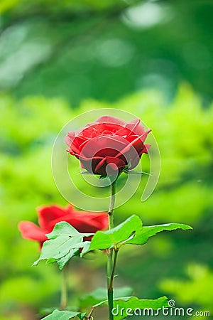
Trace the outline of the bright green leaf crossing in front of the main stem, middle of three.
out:
M 142 221 L 138 215 L 131 215 L 130 218 L 117 225 L 116 228 L 107 231 L 97 231 L 97 233 L 92 238 L 92 242 L 89 250 L 99 249 L 109 249 L 115 246 L 123 245 L 126 240 L 136 233 L 136 231 L 141 230 Z

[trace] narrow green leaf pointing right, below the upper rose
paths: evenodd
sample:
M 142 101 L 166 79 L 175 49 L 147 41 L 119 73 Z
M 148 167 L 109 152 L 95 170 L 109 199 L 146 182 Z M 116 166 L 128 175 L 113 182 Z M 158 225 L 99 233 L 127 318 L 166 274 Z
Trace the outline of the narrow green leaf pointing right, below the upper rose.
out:
M 143 227 L 141 230 L 138 230 L 134 238 L 126 243 L 133 245 L 144 245 L 148 241 L 148 238 L 153 237 L 153 235 L 156 235 L 157 233 L 160 233 L 164 230 L 171 231 L 176 229 L 190 230 L 192 229 L 192 227 L 190 227 L 190 225 L 183 225 L 182 223 L 166 223 L 164 225 L 151 225 L 149 227 Z

